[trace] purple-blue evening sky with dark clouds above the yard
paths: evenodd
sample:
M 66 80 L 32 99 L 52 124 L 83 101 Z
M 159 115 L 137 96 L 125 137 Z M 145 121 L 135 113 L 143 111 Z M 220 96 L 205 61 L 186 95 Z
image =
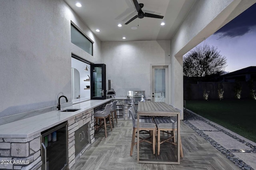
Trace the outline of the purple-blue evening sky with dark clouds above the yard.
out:
M 217 47 L 226 56 L 225 71 L 256 66 L 256 4 L 220 28 L 199 45 Z

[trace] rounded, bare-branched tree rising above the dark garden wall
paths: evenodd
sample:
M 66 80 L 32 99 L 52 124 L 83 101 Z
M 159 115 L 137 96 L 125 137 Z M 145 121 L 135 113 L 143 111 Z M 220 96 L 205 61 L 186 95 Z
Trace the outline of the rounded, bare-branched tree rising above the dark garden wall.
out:
M 196 47 L 183 56 L 183 73 L 188 77 L 220 75 L 227 66 L 227 59 L 217 48 L 208 44 Z

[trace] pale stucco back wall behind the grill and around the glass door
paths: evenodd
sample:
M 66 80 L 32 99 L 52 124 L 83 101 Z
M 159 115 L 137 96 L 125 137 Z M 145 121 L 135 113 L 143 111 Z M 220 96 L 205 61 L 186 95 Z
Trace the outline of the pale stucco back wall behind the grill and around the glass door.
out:
M 170 41 L 102 42 L 106 80 L 116 97 L 145 90 L 150 97 L 150 64 L 170 63 Z M 108 89 L 108 87 L 107 87 Z

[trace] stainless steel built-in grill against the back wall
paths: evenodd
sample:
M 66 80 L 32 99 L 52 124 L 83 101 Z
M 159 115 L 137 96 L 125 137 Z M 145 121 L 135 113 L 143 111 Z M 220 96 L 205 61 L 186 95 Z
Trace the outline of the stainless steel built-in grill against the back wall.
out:
M 145 91 L 127 91 L 127 103 L 138 105 L 139 101 L 144 102 L 146 99 Z

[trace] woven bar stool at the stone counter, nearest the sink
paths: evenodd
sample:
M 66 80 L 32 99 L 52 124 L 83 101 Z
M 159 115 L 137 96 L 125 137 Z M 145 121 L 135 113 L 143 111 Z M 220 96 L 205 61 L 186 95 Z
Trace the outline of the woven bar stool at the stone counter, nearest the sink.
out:
M 106 126 L 110 126 L 110 129 L 112 131 L 112 124 L 111 124 L 111 119 L 110 119 L 110 108 L 111 108 L 112 104 L 106 104 L 106 107 L 104 109 L 104 111 L 97 111 L 94 113 L 94 119 L 96 119 L 96 123 L 94 125 L 94 127 L 101 127 L 104 128 L 105 130 L 105 137 L 107 137 L 107 127 Z M 107 124 L 106 121 L 109 121 L 109 123 Z M 102 125 L 102 120 L 104 121 L 104 127 Z

